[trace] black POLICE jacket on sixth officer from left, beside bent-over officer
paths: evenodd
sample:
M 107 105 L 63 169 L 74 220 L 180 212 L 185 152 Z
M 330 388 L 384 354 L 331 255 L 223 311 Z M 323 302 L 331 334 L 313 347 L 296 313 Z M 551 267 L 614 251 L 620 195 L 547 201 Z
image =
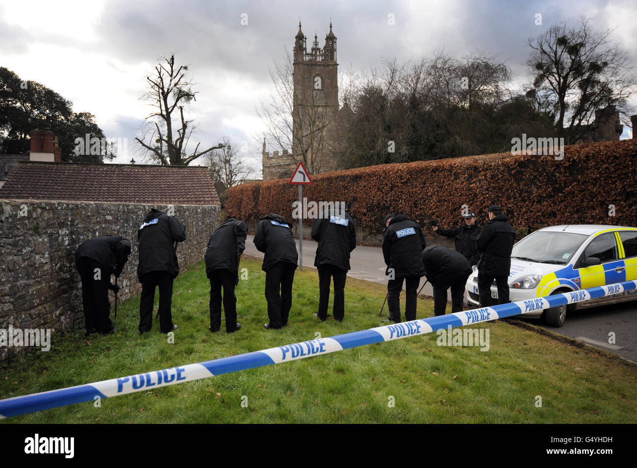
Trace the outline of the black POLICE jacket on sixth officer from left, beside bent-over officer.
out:
M 389 275 L 389 269 L 393 268 L 396 278 L 424 275 L 422 250 L 425 246 L 419 223 L 408 220 L 405 215 L 394 216 L 383 234 L 385 274 Z

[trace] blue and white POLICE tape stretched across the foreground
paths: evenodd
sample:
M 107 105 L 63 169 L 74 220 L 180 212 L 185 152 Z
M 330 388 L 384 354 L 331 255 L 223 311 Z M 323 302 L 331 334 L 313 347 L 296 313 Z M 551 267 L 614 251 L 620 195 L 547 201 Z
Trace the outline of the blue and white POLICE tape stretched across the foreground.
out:
M 60 390 L 50 390 L 39 394 L 8 398 L 0 400 L 0 419 L 33 413 L 43 409 L 59 408 L 69 404 L 94 401 L 96 397 L 108 398 L 132 394 L 147 390 L 150 387 L 175 385 L 176 383 L 208 378 L 229 372 L 244 371 L 245 369 L 254 369 L 264 365 L 279 364 L 280 362 L 323 355 L 333 351 L 347 350 L 348 348 L 364 346 L 365 344 L 423 335 L 436 330 L 447 329 L 449 325 L 462 327 L 470 323 L 488 322 L 497 318 L 530 313 L 564 304 L 573 304 L 573 302 L 588 301 L 589 299 L 636 289 L 637 281 L 626 281 L 625 283 L 538 297 L 527 301 L 510 302 L 499 306 L 472 309 L 437 317 L 420 318 L 411 322 L 394 323 L 394 325 L 385 325 L 344 335 L 286 344 L 285 346 L 269 348 L 269 350 L 254 351 L 197 364 L 171 367 L 161 371 L 144 372 L 143 374 L 118 379 L 103 380 L 86 385 L 61 388 Z

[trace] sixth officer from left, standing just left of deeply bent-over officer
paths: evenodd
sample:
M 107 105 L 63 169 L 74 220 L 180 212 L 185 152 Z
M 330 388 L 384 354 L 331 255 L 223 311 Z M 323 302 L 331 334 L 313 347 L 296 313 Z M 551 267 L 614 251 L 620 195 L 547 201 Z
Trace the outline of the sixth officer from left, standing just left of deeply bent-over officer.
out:
M 422 250 L 425 248 L 425 236 L 419 223 L 407 219 L 405 215 L 389 214 L 383 220 L 383 257 L 389 276 L 387 282 L 387 306 L 389 320 L 401 321 L 400 292 L 403 281 L 406 283 L 406 301 L 404 316 L 406 320 L 416 319 L 416 304 L 420 277 L 425 274 L 422 264 Z

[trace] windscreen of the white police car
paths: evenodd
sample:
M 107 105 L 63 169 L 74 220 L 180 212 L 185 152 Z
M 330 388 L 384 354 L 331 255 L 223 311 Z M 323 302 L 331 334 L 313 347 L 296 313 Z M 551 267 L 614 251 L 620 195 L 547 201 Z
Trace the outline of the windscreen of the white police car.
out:
M 566 265 L 589 236 L 573 232 L 538 230 L 513 246 L 512 258 Z

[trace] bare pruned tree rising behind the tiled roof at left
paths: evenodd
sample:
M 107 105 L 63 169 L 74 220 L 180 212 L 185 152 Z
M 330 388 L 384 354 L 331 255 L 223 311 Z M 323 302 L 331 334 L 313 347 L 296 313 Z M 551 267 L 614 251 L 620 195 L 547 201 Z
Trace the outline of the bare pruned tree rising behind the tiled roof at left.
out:
M 146 77 L 148 90 L 142 99 L 150 101 L 154 111 L 146 117 L 147 127 L 143 139 L 135 139 L 145 148 L 145 152 L 162 166 L 187 166 L 198 157 L 222 148 L 223 145 L 219 143 L 217 146 L 199 151 L 201 143 L 197 143 L 194 151 L 187 154 L 190 136 L 196 127 L 192 125 L 192 119 L 184 117 L 183 108 L 190 101 L 196 101 L 197 92 L 192 90 L 192 82 L 186 75 L 188 67 L 175 67 L 175 55 L 171 55 L 164 62 L 155 66 L 152 78 Z M 175 111 L 178 112 L 177 117 L 173 117 Z M 173 119 L 176 118 L 178 122 L 173 128 Z

